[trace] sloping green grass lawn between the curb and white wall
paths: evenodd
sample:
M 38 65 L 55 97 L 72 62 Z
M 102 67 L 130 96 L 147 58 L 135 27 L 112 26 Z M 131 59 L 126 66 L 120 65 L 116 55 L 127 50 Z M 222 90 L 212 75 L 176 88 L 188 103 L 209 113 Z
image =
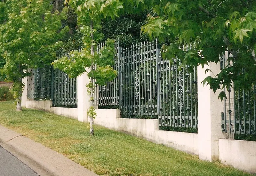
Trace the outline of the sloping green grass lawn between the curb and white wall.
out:
M 12 101 L 0 102 L 0 124 L 99 175 L 250 175 L 98 125 L 89 136 L 88 123 L 33 109 L 17 112 Z

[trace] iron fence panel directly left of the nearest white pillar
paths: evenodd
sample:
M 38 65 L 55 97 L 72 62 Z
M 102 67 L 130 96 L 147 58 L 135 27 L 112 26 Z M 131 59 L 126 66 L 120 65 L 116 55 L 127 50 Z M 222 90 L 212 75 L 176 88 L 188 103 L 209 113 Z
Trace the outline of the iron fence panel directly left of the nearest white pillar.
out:
M 186 49 L 183 47 L 183 49 Z M 159 126 L 198 128 L 197 70 L 178 58 L 157 61 Z

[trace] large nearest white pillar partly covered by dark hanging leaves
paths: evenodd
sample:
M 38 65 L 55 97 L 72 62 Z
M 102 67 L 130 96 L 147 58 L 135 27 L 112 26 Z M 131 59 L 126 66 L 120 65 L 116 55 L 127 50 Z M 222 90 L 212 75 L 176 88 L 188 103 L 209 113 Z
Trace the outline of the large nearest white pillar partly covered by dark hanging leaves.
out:
M 205 69 L 211 71 L 205 73 Z M 220 63 L 209 63 L 197 67 L 197 86 L 198 86 L 198 153 L 199 158 L 207 161 L 219 159 L 219 139 L 223 138 L 221 132 L 221 112 L 223 105 L 218 95 L 220 90 L 215 93 L 210 90 L 210 85 L 201 82 L 207 76 L 214 76 L 220 72 Z M 213 75 L 214 74 L 214 75 Z

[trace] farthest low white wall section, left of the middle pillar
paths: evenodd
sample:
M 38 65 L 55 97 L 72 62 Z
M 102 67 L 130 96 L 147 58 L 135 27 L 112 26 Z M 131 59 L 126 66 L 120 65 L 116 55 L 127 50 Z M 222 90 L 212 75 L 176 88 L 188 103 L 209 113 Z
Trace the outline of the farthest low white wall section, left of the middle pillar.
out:
M 77 108 L 52 107 L 52 100 L 26 101 L 26 108 L 44 110 L 57 115 L 77 119 Z

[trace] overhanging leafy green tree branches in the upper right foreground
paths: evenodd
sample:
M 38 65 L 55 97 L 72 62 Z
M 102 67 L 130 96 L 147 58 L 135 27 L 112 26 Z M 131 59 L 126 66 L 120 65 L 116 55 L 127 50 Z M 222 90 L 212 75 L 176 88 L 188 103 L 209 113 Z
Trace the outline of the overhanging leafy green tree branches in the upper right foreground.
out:
M 218 62 L 219 55 L 228 51 L 232 57 L 215 76 L 203 83 L 215 92 L 229 88 L 248 88 L 256 83 L 256 1 L 254 0 L 161 0 L 155 1 L 152 14 L 142 31 L 157 37 L 162 43 L 163 56 L 175 55 L 188 65 Z M 196 41 L 195 50 L 181 51 L 180 44 Z M 200 51 L 200 52 L 199 52 Z M 210 70 L 206 70 L 210 71 Z M 223 99 L 225 93 L 219 97 Z

